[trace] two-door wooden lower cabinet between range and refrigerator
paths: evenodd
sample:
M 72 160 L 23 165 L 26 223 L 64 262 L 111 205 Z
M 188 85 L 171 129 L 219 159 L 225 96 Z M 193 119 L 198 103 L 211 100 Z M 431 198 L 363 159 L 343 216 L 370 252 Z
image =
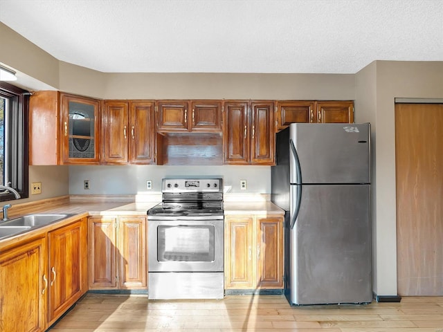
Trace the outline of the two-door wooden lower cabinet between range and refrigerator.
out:
M 225 217 L 225 288 L 283 288 L 283 216 Z

